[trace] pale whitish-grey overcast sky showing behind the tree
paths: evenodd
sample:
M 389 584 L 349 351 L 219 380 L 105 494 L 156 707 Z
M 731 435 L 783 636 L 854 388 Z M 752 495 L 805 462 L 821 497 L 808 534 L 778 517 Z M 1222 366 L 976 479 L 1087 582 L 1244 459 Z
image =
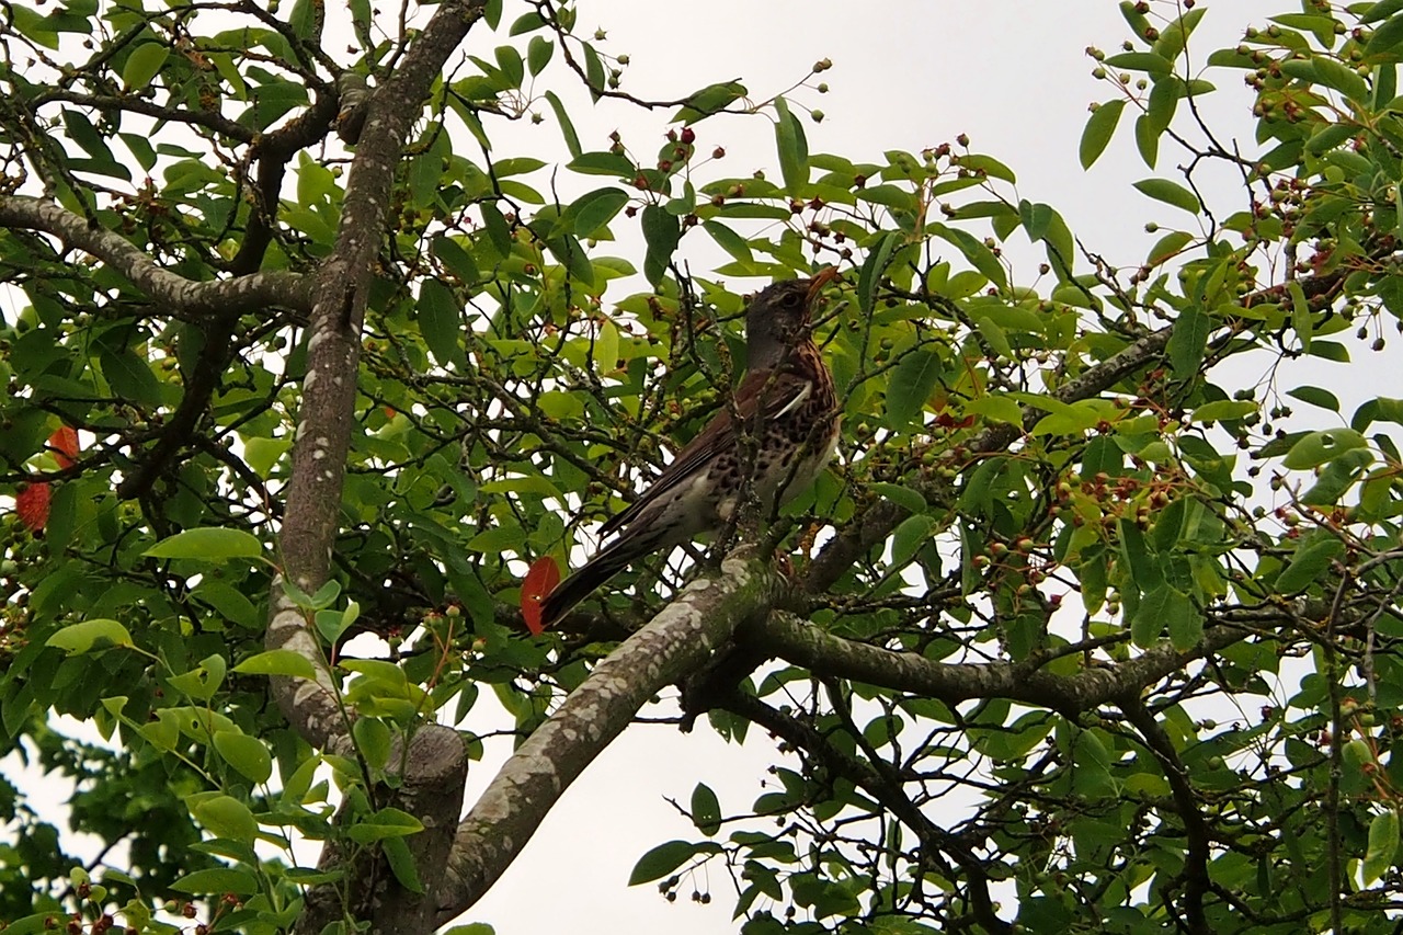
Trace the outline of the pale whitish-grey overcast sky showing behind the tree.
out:
M 1208 15 L 1191 49 L 1207 55 L 1287 4 L 1216 0 L 1202 6 Z M 805 124 L 811 152 L 835 152 L 856 161 L 888 149 L 919 152 L 967 133 L 976 152 L 1017 173 L 1021 197 L 1058 208 L 1073 233 L 1118 265 L 1138 264 L 1155 241 L 1156 236 L 1143 230 L 1146 220 L 1184 218 L 1173 218 L 1173 208 L 1129 188 L 1131 181 L 1152 173 L 1135 154 L 1128 132 L 1111 142 L 1092 171 L 1078 163 L 1087 105 L 1113 94 L 1093 80 L 1094 63 L 1085 48 L 1114 52 L 1127 35 L 1114 0 L 581 0 L 577 8 L 584 34 L 599 27 L 607 32 L 602 49 L 629 55 L 624 90 L 647 98 L 675 98 L 735 77 L 763 98 L 801 80 L 815 60 L 831 59 L 832 69 L 821 77 L 831 88 L 826 94 L 807 88 L 790 94 L 825 114 L 821 124 Z M 522 10 L 508 0 L 504 21 Z M 491 37 L 471 34 L 464 51 L 490 59 Z M 546 77 L 570 102 L 585 149 L 605 149 L 616 128 L 640 153 L 661 142 L 666 111 L 591 108 L 582 94 L 561 90 L 568 77 L 558 60 Z M 1208 121 L 1250 149 L 1249 107 L 1236 73 L 1225 74 L 1219 93 L 1204 101 Z M 540 126 L 522 122 L 504 129 L 497 154 L 540 154 L 551 146 L 563 154 L 549 108 L 543 105 L 542 112 L 547 122 Z M 776 170 L 765 117 L 709 121 L 697 133 L 700 147 L 727 149 L 724 168 L 730 174 Z M 1179 153 L 1166 145 L 1156 174 L 1172 175 L 1176 161 Z M 1235 188 L 1230 178 L 1222 183 L 1226 206 Z M 616 251 L 629 256 L 630 248 L 624 240 Z M 704 250 L 689 256 L 693 248 L 683 241 L 683 257 L 694 264 L 713 256 Z M 631 258 L 641 265 L 641 250 Z M 666 716 L 669 710 L 643 713 Z M 469 724 L 476 730 L 494 726 L 487 712 L 474 712 L 476 717 L 484 722 Z M 506 752 L 506 744 L 499 743 L 488 748 L 488 761 L 473 765 L 467 803 Z M 720 868 L 696 884 L 683 882 L 675 904 L 655 886 L 629 889 L 626 882 L 648 848 L 699 834 L 668 799 L 686 803 L 693 785 L 704 781 L 718 793 L 723 813 L 746 811 L 765 790 L 772 762 L 780 762 L 774 744 L 759 730 L 746 744 L 735 745 L 704 726 L 692 734 L 671 726 L 631 727 L 565 793 L 515 865 L 462 921 L 487 922 L 498 935 L 734 931 L 734 896 Z M 8 772 L 13 764 L 4 765 Z M 793 758 L 787 765 L 794 765 Z M 299 856 L 314 859 L 307 852 Z M 687 898 L 692 889 L 709 890 L 710 906 L 693 904 Z

